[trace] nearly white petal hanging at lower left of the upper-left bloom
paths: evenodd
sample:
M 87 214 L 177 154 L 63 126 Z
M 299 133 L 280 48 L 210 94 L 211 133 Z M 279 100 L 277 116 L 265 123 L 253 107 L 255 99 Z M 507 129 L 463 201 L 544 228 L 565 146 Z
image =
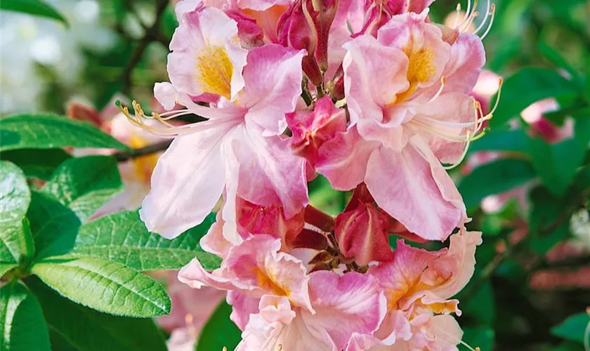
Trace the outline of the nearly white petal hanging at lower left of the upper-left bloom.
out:
M 171 239 L 211 212 L 225 185 L 220 146 L 227 131 L 221 126 L 178 137 L 162 154 L 139 211 L 150 232 Z

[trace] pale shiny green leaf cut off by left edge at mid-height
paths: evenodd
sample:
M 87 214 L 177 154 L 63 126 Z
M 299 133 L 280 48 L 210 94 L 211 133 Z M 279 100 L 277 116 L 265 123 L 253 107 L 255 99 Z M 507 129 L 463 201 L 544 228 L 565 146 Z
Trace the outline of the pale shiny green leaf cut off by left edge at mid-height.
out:
M 28 225 L 23 225 L 30 202 L 25 174 L 11 162 L 0 161 L 0 261 L 19 263 L 23 255 L 32 256 L 25 240 Z

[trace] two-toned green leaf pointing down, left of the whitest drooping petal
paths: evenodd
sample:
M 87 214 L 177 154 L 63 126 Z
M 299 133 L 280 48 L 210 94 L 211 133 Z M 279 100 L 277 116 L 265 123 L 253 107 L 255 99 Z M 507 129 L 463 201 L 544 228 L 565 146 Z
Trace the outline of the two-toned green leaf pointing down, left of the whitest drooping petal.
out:
M 86 156 L 61 164 L 43 187 L 82 222 L 123 189 L 117 160 L 110 156 Z

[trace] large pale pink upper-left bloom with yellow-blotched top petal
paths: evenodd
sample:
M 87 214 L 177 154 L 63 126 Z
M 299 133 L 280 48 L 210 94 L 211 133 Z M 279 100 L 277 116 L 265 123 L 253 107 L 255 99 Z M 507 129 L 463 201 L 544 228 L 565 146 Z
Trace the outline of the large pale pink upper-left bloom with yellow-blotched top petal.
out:
M 171 44 L 172 84 L 157 84 L 155 95 L 166 108 L 177 102 L 187 108 L 155 114 L 162 127 L 145 127 L 176 139 L 159 159 L 140 216 L 152 232 L 176 237 L 200 223 L 225 192 L 223 232 L 237 243 L 236 196 L 261 206 L 281 205 L 286 218 L 308 202 L 306 162 L 291 154 L 289 140 L 280 135 L 284 114 L 294 110 L 301 93 L 303 51 L 269 44 L 247 52 L 242 66 L 242 48 L 232 46 L 235 22 L 215 8 L 184 16 Z M 217 95 L 218 102 L 209 107 L 193 102 L 191 96 L 204 93 Z M 143 124 L 145 115 L 134 107 L 136 116 L 129 118 Z M 169 124 L 183 114 L 208 120 Z

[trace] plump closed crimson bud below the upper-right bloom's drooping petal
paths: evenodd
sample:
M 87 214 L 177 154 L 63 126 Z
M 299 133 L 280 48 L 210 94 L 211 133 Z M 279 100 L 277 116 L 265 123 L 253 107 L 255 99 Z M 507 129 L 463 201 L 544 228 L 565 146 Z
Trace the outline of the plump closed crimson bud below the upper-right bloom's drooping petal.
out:
M 393 258 L 388 240 L 389 217 L 373 204 L 360 203 L 336 217 L 334 234 L 345 258 L 364 266 Z

